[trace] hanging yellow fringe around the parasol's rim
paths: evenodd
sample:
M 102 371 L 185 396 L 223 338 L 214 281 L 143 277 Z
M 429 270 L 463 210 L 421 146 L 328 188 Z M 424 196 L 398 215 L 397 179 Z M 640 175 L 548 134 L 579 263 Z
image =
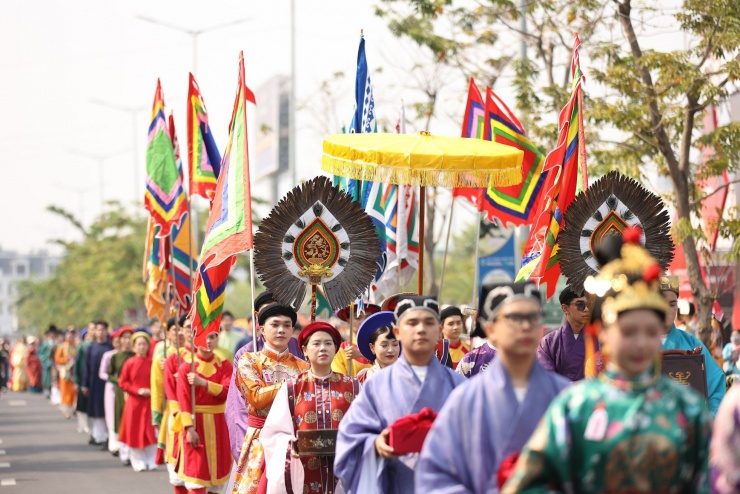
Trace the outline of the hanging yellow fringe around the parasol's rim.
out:
M 351 161 L 324 154 L 321 169 L 354 180 L 429 187 L 509 187 L 522 182 L 521 156 L 501 158 L 496 171 L 409 169 Z

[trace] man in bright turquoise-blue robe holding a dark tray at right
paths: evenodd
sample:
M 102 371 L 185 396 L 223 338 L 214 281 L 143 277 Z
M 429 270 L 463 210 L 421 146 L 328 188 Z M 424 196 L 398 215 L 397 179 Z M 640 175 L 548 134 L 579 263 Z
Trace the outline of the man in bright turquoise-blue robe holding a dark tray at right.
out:
M 663 337 L 663 347 L 661 350 L 693 350 L 701 347 L 701 354 L 704 355 L 704 368 L 707 370 L 707 394 L 709 395 L 709 411 L 712 416 L 717 414 L 722 398 L 725 397 L 725 373 L 722 372 L 717 362 L 712 358 L 707 346 L 699 338 L 681 331 L 676 327 L 676 317 L 678 315 L 678 278 L 672 276 L 663 276 L 660 278 L 660 293 L 668 302 L 668 311 L 666 312 L 666 334 Z

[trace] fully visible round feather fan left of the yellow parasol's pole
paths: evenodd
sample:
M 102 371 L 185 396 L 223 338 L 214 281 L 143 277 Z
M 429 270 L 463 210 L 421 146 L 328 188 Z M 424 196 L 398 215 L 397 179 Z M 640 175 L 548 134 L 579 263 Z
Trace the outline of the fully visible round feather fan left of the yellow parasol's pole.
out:
M 332 309 L 367 289 L 377 270 L 380 241 L 370 217 L 352 197 L 316 177 L 295 187 L 260 224 L 254 264 L 275 301 L 300 307 L 306 285 L 323 285 Z

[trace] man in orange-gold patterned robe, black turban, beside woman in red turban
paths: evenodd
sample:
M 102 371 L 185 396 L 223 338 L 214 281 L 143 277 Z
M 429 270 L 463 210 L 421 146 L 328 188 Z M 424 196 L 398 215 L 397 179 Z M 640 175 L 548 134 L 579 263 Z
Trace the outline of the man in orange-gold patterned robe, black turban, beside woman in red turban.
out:
M 253 494 L 260 482 L 266 482 L 263 478 L 264 450 L 260 441 L 265 418 L 283 381 L 309 368 L 288 349 L 296 319 L 297 314 L 292 307 L 276 303 L 263 306 L 259 323 L 265 345 L 258 353 L 243 354 L 237 363 L 236 385 L 247 408 L 248 428 L 242 437 L 234 472 L 234 494 Z M 233 431 L 231 434 L 234 437 Z

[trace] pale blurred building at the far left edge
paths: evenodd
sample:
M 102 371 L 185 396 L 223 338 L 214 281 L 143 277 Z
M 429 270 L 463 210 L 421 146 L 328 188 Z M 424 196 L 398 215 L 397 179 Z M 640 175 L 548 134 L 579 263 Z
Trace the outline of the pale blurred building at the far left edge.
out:
M 0 335 L 18 330 L 15 303 L 18 297 L 18 282 L 21 280 L 44 279 L 54 274 L 61 257 L 46 251 L 18 254 L 0 250 Z

